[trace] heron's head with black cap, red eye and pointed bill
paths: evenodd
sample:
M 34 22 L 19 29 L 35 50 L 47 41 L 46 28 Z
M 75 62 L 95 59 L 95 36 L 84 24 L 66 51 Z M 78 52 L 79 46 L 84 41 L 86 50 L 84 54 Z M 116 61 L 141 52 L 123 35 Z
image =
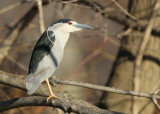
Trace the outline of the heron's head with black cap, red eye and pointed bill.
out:
M 55 31 L 58 30 L 58 31 L 67 32 L 67 33 L 79 31 L 82 29 L 93 29 L 93 27 L 79 24 L 76 21 L 73 21 L 71 19 L 58 20 L 52 24 L 52 27 L 54 28 Z

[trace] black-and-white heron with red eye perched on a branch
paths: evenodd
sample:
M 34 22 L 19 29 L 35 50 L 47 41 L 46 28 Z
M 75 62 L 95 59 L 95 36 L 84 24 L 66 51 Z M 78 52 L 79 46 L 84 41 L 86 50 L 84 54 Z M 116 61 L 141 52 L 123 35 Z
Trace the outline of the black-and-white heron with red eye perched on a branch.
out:
M 91 26 L 79 24 L 71 19 L 60 19 L 53 22 L 37 41 L 31 55 L 26 88 L 29 95 L 35 93 L 40 84 L 46 81 L 51 98 L 59 98 L 53 94 L 49 78 L 59 66 L 65 45 L 70 33 L 82 29 L 94 29 Z

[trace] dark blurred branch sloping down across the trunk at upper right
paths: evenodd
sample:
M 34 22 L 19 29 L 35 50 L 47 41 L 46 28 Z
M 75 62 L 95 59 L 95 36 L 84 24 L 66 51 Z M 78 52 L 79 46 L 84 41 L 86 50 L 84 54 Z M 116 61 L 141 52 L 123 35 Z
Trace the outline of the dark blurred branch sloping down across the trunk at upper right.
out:
M 119 24 L 122 24 L 124 26 L 128 26 L 130 28 L 133 28 L 134 30 L 138 30 L 138 31 L 145 31 L 145 29 L 147 28 L 148 23 L 144 23 L 141 20 L 138 19 L 133 19 L 133 18 L 127 18 L 126 16 L 123 16 L 121 14 L 117 14 L 115 12 L 110 12 L 107 10 L 107 8 L 105 6 L 102 6 L 101 4 L 99 4 L 98 2 L 94 2 L 94 1 L 77 1 L 77 2 L 64 2 L 65 0 L 56 0 L 56 2 L 60 2 L 63 4 L 76 4 L 79 6 L 84 6 L 87 8 L 90 8 L 92 10 L 94 10 L 95 12 L 100 12 L 101 16 L 103 16 L 104 18 L 110 19 L 112 21 L 115 21 Z M 152 35 L 155 36 L 159 36 L 160 32 L 156 29 L 152 29 L 151 32 Z

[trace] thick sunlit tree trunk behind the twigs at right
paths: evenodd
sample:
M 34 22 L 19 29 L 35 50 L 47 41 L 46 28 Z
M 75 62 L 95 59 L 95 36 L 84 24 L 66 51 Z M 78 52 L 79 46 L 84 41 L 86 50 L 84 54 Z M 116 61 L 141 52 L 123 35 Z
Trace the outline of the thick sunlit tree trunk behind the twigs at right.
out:
M 159 0 L 130 0 L 129 12 L 143 23 L 148 23 L 152 17 L 154 7 L 160 4 Z M 160 26 L 160 9 L 156 10 L 154 16 L 155 23 L 153 29 Z M 135 60 L 137 52 L 140 49 L 141 42 L 145 34 L 144 31 L 132 30 L 132 32 L 122 39 L 122 45 L 115 62 L 109 86 L 120 89 L 134 89 L 133 80 L 135 79 Z M 138 91 L 153 93 L 159 88 L 160 80 L 160 38 L 156 35 L 150 35 L 147 46 L 145 47 L 142 63 L 138 69 Z M 135 83 L 137 84 L 137 83 Z M 137 98 L 137 113 L 141 114 L 158 114 L 156 107 L 148 99 Z M 132 98 L 130 96 L 116 95 L 107 93 L 106 104 L 109 109 L 131 113 Z

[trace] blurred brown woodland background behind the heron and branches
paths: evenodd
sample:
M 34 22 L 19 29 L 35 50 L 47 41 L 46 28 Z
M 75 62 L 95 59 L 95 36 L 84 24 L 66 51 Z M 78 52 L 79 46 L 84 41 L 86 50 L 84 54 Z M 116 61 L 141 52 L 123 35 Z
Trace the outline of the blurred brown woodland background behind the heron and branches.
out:
M 43 32 L 42 23 L 44 22 L 46 29 L 58 19 L 69 18 L 95 29 L 70 35 L 63 61 L 55 72 L 56 77 L 135 90 L 136 82 L 133 81 L 136 77 L 134 76 L 135 58 L 141 47 L 147 23 L 155 11 L 154 6 L 159 2 L 156 0 L 152 2 L 42 0 L 43 19 L 40 19 L 38 1 L 41 0 L 0 1 L 0 70 L 27 75 L 32 50 Z M 143 7 L 141 7 L 142 4 Z M 160 10 L 156 11 L 159 13 Z M 160 30 L 158 20 L 160 19 L 157 16 L 156 26 L 153 27 L 157 33 Z M 152 93 L 159 88 L 159 50 L 159 34 L 153 34 L 147 43 L 147 49 L 145 48 L 143 52 L 145 57 L 138 79 L 139 91 Z M 56 88 L 100 108 L 126 113 L 133 111 L 132 98 L 129 96 L 67 85 L 58 85 Z M 0 84 L 1 101 L 23 96 L 28 95 L 21 90 Z M 140 101 L 141 99 L 138 102 Z M 144 102 L 137 104 L 138 113 L 158 114 L 152 102 L 146 99 L 142 101 Z M 53 112 L 63 114 L 58 109 L 53 111 L 52 108 L 47 107 L 24 107 L 6 111 L 4 114 L 53 114 Z

